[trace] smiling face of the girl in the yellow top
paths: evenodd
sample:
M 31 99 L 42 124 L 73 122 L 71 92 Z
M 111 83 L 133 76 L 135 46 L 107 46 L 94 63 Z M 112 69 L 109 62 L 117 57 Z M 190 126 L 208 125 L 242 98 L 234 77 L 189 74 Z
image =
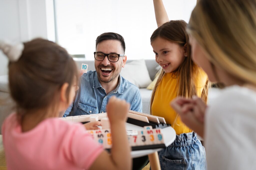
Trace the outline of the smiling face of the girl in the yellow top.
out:
M 185 47 L 162 37 L 157 37 L 151 46 L 156 54 L 156 62 L 164 69 L 165 73 L 171 73 L 179 68 L 187 56 Z

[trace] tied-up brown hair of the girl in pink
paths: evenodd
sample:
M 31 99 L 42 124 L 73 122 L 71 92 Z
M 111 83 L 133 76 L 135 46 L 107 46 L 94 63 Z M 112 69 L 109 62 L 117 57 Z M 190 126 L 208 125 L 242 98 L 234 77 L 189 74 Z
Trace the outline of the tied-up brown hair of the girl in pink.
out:
M 56 93 L 64 83 L 69 84 L 68 98 L 78 77 L 76 63 L 67 51 L 41 38 L 24 43 L 21 57 L 18 61 L 9 61 L 8 68 L 10 94 L 19 115 L 57 104 Z

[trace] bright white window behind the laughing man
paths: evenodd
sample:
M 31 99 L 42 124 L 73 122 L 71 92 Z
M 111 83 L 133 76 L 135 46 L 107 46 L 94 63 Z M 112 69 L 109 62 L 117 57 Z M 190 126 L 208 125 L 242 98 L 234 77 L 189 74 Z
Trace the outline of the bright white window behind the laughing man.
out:
M 104 32 L 124 37 L 127 59 L 154 59 L 150 37 L 157 28 L 153 0 L 55 0 L 57 42 L 70 54 L 93 60 Z M 170 20 L 189 21 L 196 0 L 165 0 Z

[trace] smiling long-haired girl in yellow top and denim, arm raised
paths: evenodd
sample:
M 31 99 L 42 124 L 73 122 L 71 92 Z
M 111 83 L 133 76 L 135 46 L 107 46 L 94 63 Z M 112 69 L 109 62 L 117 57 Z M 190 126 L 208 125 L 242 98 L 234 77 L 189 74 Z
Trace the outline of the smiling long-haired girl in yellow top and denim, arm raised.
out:
M 205 169 L 205 149 L 196 133 L 170 107 L 177 96 L 207 100 L 208 77 L 191 59 L 183 20 L 169 21 L 162 0 L 153 0 L 158 28 L 150 40 L 156 62 L 162 67 L 153 89 L 151 114 L 164 117 L 176 131 L 175 141 L 159 151 L 161 169 Z

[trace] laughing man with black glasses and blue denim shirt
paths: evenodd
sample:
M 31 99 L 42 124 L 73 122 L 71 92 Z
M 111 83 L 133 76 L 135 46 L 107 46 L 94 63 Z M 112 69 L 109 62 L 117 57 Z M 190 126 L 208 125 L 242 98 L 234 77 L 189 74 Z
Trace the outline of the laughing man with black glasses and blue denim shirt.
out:
M 88 71 L 81 76 L 77 96 L 66 110 L 65 117 L 104 113 L 108 99 L 113 95 L 129 102 L 130 110 L 142 112 L 140 90 L 120 75 L 126 63 L 124 52 L 124 38 L 120 34 L 108 32 L 97 37 L 94 52 L 96 71 Z M 133 159 L 133 169 L 142 169 L 147 161 L 147 156 Z

